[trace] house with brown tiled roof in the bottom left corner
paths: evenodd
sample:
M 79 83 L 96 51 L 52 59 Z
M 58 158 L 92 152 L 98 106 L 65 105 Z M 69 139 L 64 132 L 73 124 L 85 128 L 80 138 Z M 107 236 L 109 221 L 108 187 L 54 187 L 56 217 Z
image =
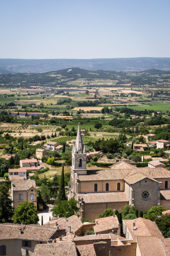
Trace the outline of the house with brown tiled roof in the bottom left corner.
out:
M 55 227 L 40 225 L 0 224 L 0 255 L 32 256 L 36 244 L 50 243 L 65 235 Z

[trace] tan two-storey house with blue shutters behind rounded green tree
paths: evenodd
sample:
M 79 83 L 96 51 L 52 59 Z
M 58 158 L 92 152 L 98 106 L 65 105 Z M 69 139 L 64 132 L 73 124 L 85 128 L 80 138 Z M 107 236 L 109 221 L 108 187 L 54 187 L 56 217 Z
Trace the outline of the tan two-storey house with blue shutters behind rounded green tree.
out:
M 13 180 L 11 182 L 12 206 L 20 202 L 32 202 L 37 207 L 37 189 L 35 180 Z

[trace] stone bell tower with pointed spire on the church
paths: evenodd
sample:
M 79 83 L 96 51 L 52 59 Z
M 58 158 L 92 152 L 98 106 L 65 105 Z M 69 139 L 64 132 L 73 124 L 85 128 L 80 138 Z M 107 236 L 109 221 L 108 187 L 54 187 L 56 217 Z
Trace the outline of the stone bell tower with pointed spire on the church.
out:
M 78 175 L 87 174 L 86 169 L 86 148 L 83 145 L 82 135 L 80 131 L 80 123 L 78 127 L 78 134 L 76 137 L 76 143 L 72 148 L 72 167 L 71 172 L 76 172 Z

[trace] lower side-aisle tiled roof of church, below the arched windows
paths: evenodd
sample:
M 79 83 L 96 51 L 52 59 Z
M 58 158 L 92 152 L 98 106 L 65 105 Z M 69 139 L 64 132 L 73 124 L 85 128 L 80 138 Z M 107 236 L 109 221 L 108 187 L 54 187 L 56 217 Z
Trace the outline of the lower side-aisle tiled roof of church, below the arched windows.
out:
M 129 202 L 125 192 L 87 193 L 78 194 L 78 197 L 83 197 L 83 201 L 88 204 L 100 202 Z

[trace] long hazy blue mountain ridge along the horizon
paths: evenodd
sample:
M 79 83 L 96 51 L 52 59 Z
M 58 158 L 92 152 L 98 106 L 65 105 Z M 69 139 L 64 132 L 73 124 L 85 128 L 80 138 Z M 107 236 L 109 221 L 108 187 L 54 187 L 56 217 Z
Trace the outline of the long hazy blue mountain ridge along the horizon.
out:
M 0 74 L 42 73 L 79 67 L 86 70 L 170 70 L 170 58 L 0 59 Z

